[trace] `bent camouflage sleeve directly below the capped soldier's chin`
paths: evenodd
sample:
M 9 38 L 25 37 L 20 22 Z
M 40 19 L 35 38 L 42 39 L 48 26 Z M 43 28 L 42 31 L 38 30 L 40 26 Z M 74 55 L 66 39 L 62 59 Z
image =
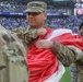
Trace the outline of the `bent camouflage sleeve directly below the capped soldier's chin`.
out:
M 16 33 L 16 35 L 22 39 L 24 44 L 29 44 L 35 38 L 37 38 L 37 28 L 33 28 L 31 26 L 19 27 L 13 30 L 12 32 Z

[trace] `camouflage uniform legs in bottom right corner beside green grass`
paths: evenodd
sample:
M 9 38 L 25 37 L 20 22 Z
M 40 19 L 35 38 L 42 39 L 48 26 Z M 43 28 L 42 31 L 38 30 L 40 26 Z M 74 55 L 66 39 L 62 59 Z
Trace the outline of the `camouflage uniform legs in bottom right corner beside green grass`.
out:
M 83 65 L 75 67 L 75 63 L 73 63 L 70 70 L 72 82 L 83 82 Z

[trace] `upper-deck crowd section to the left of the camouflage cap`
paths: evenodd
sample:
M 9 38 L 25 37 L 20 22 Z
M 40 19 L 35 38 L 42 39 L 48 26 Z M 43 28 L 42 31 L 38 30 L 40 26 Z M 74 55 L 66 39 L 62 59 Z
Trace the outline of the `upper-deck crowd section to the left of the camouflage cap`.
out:
M 17 3 L 15 1 L 4 1 L 0 2 L 0 12 L 23 12 L 25 10 L 25 5 L 23 5 L 21 2 Z

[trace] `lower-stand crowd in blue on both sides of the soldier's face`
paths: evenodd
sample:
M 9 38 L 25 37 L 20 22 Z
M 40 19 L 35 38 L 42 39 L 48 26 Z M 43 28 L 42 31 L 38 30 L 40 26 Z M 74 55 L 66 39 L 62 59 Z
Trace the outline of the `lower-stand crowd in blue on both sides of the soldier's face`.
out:
M 83 15 L 71 15 L 67 17 L 48 16 L 48 20 L 46 20 L 46 24 L 49 27 L 70 28 L 73 33 L 78 33 L 81 23 L 83 23 Z M 26 27 L 28 25 L 25 17 L 20 16 L 0 16 L 0 24 L 7 30 L 13 30 L 20 26 Z

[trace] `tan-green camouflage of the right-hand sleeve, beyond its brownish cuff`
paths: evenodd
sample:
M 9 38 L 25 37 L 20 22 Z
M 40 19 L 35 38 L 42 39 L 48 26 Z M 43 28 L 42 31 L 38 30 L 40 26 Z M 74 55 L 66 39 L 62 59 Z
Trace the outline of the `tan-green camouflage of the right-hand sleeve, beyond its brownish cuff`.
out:
M 60 45 L 58 59 L 64 65 L 70 66 L 76 60 L 83 60 L 83 51 L 75 46 Z M 79 62 L 78 62 L 79 63 Z

